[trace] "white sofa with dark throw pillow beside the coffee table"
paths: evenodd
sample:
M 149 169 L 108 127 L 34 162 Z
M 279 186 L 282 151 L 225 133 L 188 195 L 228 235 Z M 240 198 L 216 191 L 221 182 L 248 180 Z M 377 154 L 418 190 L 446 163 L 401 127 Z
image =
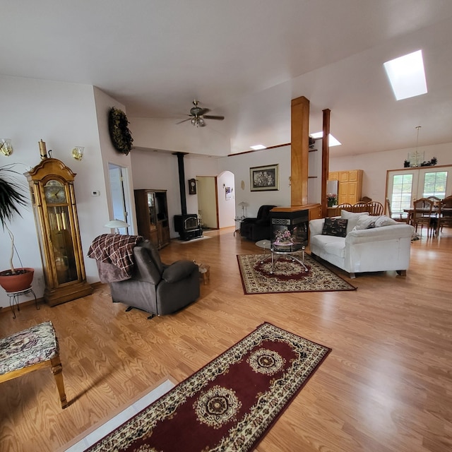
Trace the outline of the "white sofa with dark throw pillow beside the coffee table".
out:
M 414 227 L 393 220 L 396 224 L 392 224 L 388 217 L 381 217 L 383 224 L 391 225 L 357 230 L 357 222 L 363 223 L 364 218 L 358 220 L 355 215 L 358 217 L 360 214 L 346 214 L 343 212 L 343 218 L 349 218 L 345 237 L 323 235 L 324 218 L 309 222 L 311 255 L 342 268 L 350 273 L 350 278 L 355 278 L 355 273 L 385 270 L 396 270 L 399 275 L 406 275 Z M 369 223 L 374 217 L 366 218 Z

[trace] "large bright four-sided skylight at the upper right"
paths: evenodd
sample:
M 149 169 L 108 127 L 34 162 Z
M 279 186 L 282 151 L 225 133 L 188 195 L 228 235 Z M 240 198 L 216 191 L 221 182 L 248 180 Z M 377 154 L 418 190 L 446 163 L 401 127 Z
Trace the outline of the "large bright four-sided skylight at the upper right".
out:
M 383 66 L 397 100 L 427 93 L 422 50 L 386 61 Z

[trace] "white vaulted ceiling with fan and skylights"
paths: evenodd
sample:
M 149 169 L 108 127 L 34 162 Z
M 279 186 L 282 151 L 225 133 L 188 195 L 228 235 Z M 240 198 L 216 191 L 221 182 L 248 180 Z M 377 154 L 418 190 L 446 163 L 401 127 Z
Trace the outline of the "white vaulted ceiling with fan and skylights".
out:
M 95 85 L 132 121 L 196 98 L 226 153 L 290 142 L 302 95 L 311 133 L 331 109 L 332 156 L 414 147 L 418 125 L 452 143 L 451 0 L 0 1 L 1 75 Z M 429 93 L 396 102 L 383 62 L 417 49 Z

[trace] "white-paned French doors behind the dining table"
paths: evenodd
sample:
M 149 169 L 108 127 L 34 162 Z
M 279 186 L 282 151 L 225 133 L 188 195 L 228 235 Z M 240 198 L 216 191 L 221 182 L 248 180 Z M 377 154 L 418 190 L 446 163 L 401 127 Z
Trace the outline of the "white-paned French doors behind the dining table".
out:
M 393 213 L 412 208 L 419 198 L 452 194 L 452 166 L 391 169 L 387 173 L 386 197 Z

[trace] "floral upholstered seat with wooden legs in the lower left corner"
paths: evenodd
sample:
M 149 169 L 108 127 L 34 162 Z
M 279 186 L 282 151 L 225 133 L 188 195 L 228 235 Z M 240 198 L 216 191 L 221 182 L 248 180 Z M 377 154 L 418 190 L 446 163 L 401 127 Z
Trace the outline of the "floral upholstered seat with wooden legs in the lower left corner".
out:
M 0 383 L 42 367 L 52 369 L 61 408 L 66 408 L 68 402 L 64 392 L 63 367 L 52 322 L 40 323 L 0 339 Z

